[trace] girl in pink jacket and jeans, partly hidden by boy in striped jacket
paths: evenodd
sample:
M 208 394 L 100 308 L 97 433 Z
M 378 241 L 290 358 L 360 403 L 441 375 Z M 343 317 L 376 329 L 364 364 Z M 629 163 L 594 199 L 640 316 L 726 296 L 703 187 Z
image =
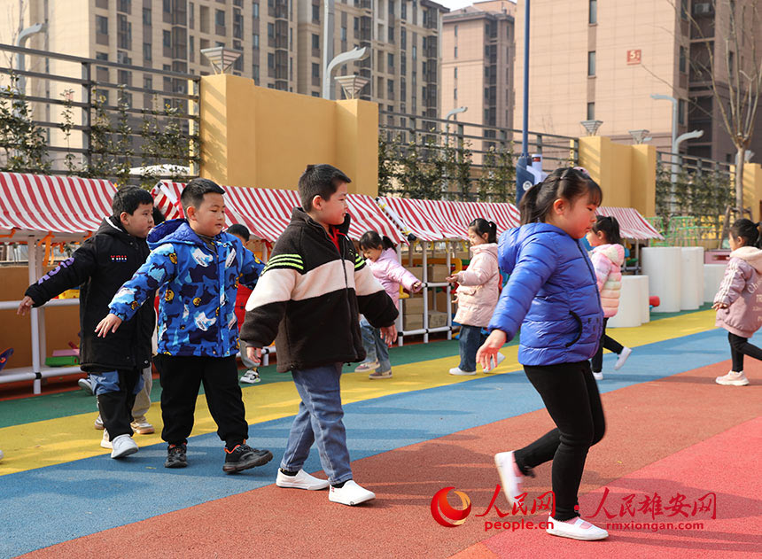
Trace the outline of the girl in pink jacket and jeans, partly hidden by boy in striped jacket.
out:
M 360 250 L 367 259 L 368 267 L 373 272 L 386 293 L 399 307 L 400 283 L 408 291 L 421 291 L 423 284 L 416 276 L 402 268 L 394 252 L 394 244 L 389 237 L 381 237 L 376 231 L 366 231 L 360 237 Z M 369 378 L 391 378 L 392 362 L 389 361 L 389 348 L 381 338 L 381 332 L 373 328 L 363 316 L 360 320 L 362 345 L 365 347 L 365 361 L 362 361 L 356 373 L 370 372 Z

